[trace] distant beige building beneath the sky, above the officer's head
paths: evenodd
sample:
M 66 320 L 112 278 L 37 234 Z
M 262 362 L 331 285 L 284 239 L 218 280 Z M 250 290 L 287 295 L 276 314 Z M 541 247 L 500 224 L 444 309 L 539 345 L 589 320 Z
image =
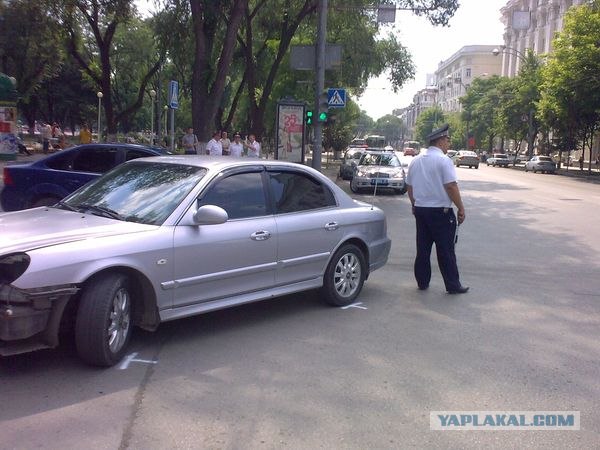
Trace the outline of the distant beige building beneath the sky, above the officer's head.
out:
M 500 75 L 502 60 L 494 56 L 497 45 L 467 45 L 439 63 L 435 72 L 437 104 L 445 112 L 461 110 L 464 96 L 475 78 Z

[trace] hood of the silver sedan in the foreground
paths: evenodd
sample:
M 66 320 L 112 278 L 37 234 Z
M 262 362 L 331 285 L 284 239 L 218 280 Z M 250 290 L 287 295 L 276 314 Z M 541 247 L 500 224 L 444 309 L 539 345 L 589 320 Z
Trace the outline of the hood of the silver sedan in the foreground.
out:
M 56 208 L 0 214 L 0 255 L 82 239 L 138 233 L 155 225 L 107 219 Z

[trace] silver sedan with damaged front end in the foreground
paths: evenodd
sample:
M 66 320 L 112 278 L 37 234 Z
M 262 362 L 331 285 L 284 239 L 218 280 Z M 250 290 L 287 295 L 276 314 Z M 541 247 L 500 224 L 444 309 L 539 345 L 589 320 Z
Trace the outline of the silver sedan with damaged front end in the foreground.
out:
M 283 161 L 127 161 L 54 206 L 0 214 L 0 354 L 58 344 L 111 366 L 132 328 L 299 291 L 354 302 L 388 258 L 384 212 Z

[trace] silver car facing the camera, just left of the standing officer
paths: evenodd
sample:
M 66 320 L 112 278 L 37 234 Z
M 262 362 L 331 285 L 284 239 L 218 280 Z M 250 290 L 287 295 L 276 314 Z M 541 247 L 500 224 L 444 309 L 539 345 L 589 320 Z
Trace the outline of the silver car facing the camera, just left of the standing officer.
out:
M 405 172 L 394 152 L 365 152 L 354 169 L 350 190 L 392 189 L 396 194 L 406 193 Z

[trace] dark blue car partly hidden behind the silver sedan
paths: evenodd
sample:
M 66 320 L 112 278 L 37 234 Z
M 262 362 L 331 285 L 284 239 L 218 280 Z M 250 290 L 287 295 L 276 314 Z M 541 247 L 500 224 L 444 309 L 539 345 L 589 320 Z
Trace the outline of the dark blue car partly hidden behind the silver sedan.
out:
M 125 161 L 165 152 L 144 145 L 83 144 L 33 163 L 6 166 L 0 203 L 4 211 L 53 205 Z

